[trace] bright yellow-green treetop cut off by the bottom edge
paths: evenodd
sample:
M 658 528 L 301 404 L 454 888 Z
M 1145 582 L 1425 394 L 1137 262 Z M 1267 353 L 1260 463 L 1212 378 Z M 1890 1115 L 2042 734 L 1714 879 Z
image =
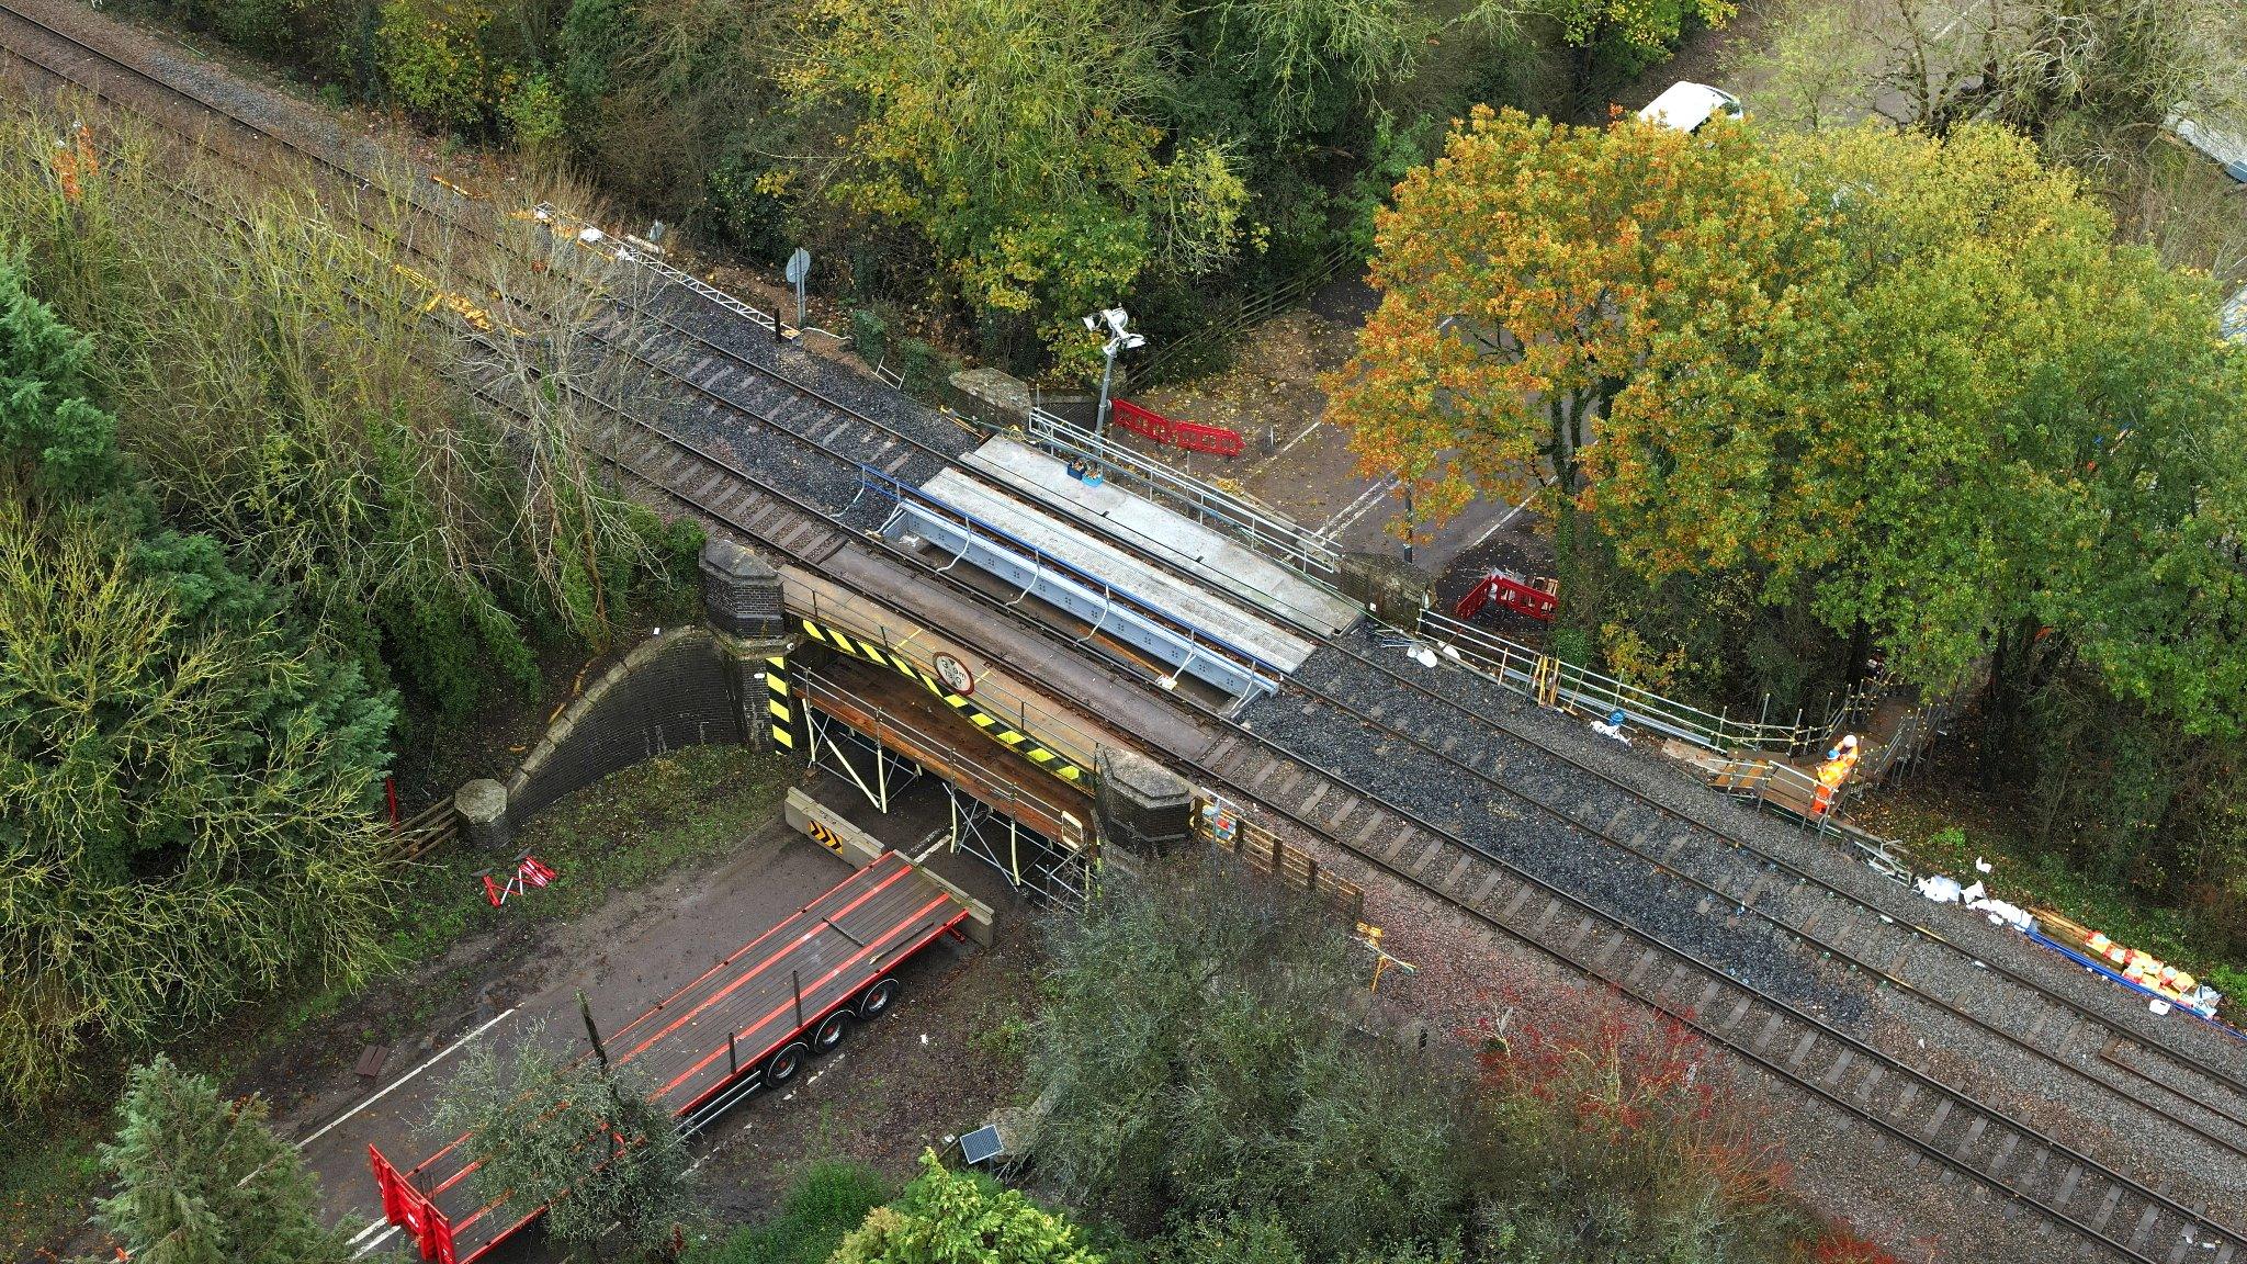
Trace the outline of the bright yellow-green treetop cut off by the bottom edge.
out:
M 874 1208 L 829 1264 L 1101 1264 L 1067 1219 L 921 1152 L 921 1174 Z

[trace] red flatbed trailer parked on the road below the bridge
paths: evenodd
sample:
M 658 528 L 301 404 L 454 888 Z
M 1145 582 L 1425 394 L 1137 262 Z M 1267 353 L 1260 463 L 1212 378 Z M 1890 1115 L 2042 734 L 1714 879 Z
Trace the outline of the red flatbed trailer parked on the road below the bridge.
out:
M 748 1093 L 793 1080 L 852 1021 L 888 1012 L 892 972 L 966 915 L 950 891 L 883 852 L 602 1044 L 613 1066 L 654 1073 L 649 1098 L 681 1129 L 701 1129 Z M 436 1264 L 472 1264 L 546 1210 L 481 1197 L 467 1140 L 407 1170 L 366 1147 L 384 1219 Z

